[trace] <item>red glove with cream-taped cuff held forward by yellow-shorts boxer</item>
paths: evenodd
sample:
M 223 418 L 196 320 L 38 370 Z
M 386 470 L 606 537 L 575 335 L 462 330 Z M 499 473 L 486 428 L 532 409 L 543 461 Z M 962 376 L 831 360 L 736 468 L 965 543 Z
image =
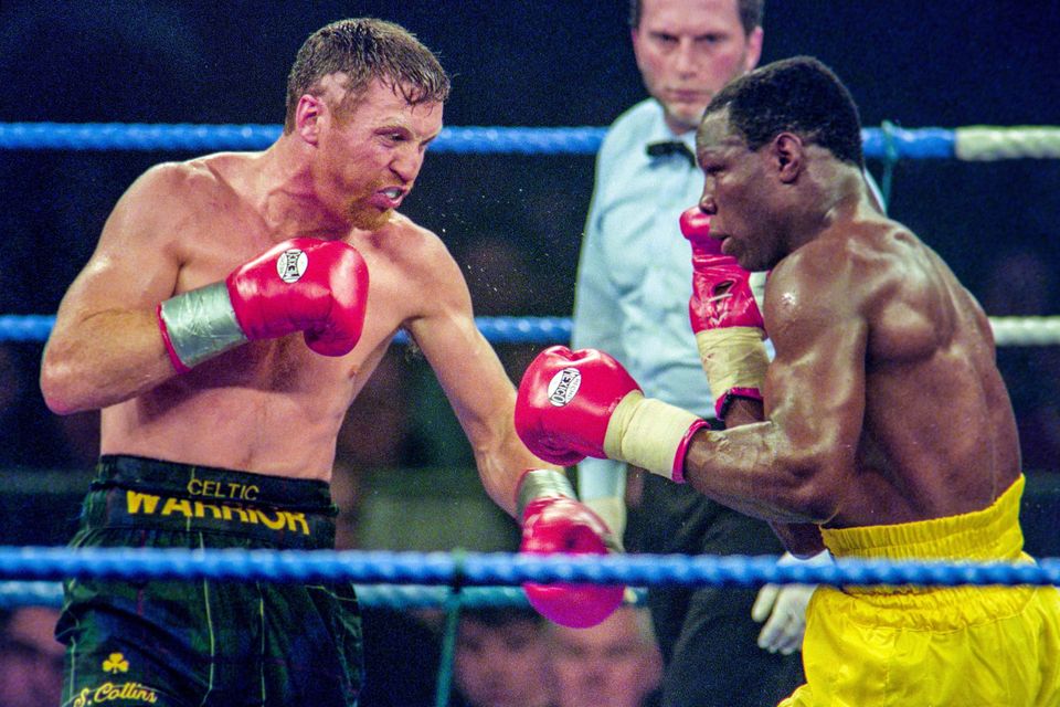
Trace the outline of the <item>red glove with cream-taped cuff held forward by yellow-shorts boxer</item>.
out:
M 531 361 L 516 399 L 516 432 L 531 452 L 570 466 L 586 456 L 627 462 L 678 483 L 707 422 L 645 398 L 614 358 L 553 346 Z

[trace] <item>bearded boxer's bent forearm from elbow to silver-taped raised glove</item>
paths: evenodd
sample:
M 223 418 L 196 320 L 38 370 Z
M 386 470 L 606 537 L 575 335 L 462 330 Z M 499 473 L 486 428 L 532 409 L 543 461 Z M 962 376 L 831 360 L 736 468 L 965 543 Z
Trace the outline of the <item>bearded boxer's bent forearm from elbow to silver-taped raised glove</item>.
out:
M 98 410 L 176 374 L 152 310 L 60 315 L 44 349 L 41 390 L 55 413 Z

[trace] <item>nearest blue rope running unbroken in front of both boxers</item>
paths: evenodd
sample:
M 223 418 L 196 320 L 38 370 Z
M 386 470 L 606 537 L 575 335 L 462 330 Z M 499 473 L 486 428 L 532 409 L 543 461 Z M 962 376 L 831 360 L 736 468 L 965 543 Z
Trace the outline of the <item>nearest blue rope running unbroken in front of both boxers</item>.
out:
M 523 582 L 625 583 L 633 587 L 788 584 L 1060 584 L 1060 559 L 1005 562 L 839 560 L 825 567 L 778 566 L 772 557 L 681 555 L 534 556 L 385 551 L 0 548 L 0 578 L 57 580 L 214 579 L 362 583 L 518 585 Z

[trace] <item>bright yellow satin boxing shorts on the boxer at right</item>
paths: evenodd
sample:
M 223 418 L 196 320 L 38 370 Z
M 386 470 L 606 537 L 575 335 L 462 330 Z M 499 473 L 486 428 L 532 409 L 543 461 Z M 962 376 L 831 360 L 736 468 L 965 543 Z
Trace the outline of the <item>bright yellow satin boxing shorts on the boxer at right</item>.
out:
M 1028 561 L 1020 476 L 989 508 L 822 529 L 837 558 Z M 1060 705 L 1053 587 L 825 587 L 806 611 L 806 685 L 781 707 Z

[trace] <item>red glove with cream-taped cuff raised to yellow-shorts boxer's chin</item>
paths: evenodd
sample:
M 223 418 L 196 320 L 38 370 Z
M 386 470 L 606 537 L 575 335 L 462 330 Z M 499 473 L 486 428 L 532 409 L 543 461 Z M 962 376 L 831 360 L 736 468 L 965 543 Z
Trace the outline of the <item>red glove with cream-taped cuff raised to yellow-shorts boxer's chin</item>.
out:
M 710 217 L 692 207 L 681 214 L 680 224 L 692 246 L 688 318 L 714 412 L 724 419 L 733 397 L 762 400 L 770 362 L 762 344 L 765 324 L 751 292 L 751 273 L 721 252 L 721 241 L 710 238 Z

